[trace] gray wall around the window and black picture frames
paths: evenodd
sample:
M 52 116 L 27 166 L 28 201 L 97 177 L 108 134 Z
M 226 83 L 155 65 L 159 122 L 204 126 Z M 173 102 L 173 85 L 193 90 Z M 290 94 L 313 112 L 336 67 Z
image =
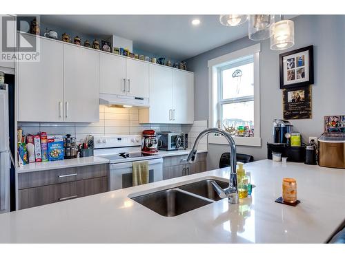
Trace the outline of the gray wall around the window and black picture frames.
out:
M 291 120 L 302 140 L 320 136 L 327 115 L 345 114 L 345 15 L 303 15 L 295 17 L 295 45 L 281 52 L 270 50 L 269 39 L 260 41 L 260 119 L 262 147 L 238 147 L 239 153 L 253 155 L 255 160 L 266 158 L 266 142 L 271 141 L 272 122 L 282 118 L 282 90 L 279 89 L 279 54 L 314 45 L 315 83 L 312 87 L 313 118 Z M 231 29 L 229 28 L 229 31 Z M 208 120 L 207 61 L 254 45 L 248 37 L 239 39 L 186 60 L 195 72 L 195 120 Z M 224 145 L 208 144 L 208 168 L 217 168 Z

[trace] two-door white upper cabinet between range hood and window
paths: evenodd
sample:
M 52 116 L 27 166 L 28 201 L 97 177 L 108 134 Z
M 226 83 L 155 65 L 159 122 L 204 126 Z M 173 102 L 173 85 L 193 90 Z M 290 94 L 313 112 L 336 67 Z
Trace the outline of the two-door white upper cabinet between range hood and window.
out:
M 194 74 L 150 65 L 150 107 L 139 110 L 139 122 L 193 124 Z

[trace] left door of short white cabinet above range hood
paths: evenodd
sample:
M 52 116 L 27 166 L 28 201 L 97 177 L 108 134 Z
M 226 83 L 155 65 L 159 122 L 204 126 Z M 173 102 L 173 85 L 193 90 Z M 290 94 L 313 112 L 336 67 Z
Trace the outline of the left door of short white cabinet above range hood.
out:
M 99 92 L 126 95 L 126 58 L 99 53 Z

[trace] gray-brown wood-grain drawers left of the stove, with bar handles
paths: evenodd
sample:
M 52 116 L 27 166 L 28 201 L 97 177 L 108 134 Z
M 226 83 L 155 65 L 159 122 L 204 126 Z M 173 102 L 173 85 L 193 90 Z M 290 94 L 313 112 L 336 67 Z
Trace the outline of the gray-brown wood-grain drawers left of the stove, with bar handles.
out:
M 108 191 L 108 164 L 19 174 L 19 209 Z

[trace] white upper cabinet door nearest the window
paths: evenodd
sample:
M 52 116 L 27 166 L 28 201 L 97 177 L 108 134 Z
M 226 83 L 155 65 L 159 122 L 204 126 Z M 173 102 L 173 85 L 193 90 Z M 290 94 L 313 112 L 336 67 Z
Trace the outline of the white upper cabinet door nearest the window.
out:
M 176 124 L 194 122 L 194 74 L 172 70 L 172 120 Z

